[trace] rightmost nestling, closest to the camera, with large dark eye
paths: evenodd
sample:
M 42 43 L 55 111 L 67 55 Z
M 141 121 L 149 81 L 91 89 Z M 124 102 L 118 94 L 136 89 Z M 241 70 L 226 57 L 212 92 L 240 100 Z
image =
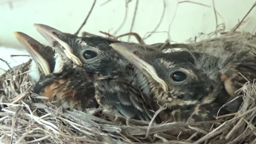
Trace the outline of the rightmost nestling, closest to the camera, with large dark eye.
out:
M 155 110 L 158 105 L 167 105 L 159 114 L 161 121 L 207 121 L 217 114 L 235 113 L 242 101 L 229 102 L 234 95 L 229 91 L 230 85 L 222 82 L 223 75 L 238 82 L 242 79 L 238 71 L 242 74 L 250 71 L 250 78 L 256 77 L 254 58 L 240 59 L 239 63 L 229 58 L 223 62 L 206 53 L 140 53 L 131 51 L 130 46 L 123 43 L 111 46 L 136 67 L 135 85 L 149 102 L 157 101 L 150 105 Z M 229 103 L 224 105 L 226 102 Z

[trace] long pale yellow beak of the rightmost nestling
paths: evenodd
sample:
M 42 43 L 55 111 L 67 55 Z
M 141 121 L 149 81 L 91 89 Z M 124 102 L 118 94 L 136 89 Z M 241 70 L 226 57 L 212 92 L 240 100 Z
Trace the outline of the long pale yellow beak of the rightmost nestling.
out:
M 134 52 L 136 51 L 132 49 L 131 45 L 125 43 L 112 43 L 110 46 L 113 47 L 113 49 L 121 54 L 124 58 L 130 61 L 134 66 L 140 69 L 142 73 L 148 73 L 153 79 L 155 79 L 157 83 L 159 83 L 159 85 L 162 86 L 164 92 L 167 92 L 167 84 L 163 81 L 163 79 L 158 77 L 156 69 L 135 55 Z

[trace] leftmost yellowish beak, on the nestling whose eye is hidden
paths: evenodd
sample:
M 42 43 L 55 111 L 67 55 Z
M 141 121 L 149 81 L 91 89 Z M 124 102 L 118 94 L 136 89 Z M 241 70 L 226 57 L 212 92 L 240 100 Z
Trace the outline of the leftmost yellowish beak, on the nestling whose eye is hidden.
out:
M 43 57 L 44 54 L 42 54 L 40 50 L 44 49 L 44 45 L 37 42 L 36 39 L 15 31 L 14 35 L 17 37 L 18 41 L 25 47 L 27 52 L 31 55 L 32 59 L 37 63 L 37 66 L 40 66 L 44 72 L 45 75 L 48 75 L 51 73 L 51 68 L 49 62 Z M 46 54 L 45 54 L 46 55 Z

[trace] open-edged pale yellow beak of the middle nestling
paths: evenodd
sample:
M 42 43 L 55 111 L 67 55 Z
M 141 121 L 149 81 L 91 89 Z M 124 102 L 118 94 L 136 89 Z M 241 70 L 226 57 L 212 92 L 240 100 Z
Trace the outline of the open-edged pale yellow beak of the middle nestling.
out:
M 65 37 L 65 33 L 43 24 L 34 24 L 34 26 L 37 31 L 52 45 L 54 45 L 54 42 L 58 42 L 61 45 L 60 47 L 55 47 L 56 49 L 61 49 L 60 51 L 63 51 L 76 65 L 80 67 L 82 66 L 82 62 L 76 57 L 76 55 L 74 55 L 73 47 L 61 40 Z

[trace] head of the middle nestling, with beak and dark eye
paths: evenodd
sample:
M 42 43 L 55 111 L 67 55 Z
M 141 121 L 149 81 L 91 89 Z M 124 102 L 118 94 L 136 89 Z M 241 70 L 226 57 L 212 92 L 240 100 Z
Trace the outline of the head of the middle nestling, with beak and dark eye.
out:
M 76 65 L 83 67 L 91 73 L 108 75 L 116 73 L 120 67 L 127 63 L 120 59 L 120 55 L 109 45 L 114 41 L 103 37 L 78 37 L 62 33 L 50 26 L 35 24 L 36 29 L 54 49 L 63 51 Z M 136 48 L 134 48 L 136 49 Z

